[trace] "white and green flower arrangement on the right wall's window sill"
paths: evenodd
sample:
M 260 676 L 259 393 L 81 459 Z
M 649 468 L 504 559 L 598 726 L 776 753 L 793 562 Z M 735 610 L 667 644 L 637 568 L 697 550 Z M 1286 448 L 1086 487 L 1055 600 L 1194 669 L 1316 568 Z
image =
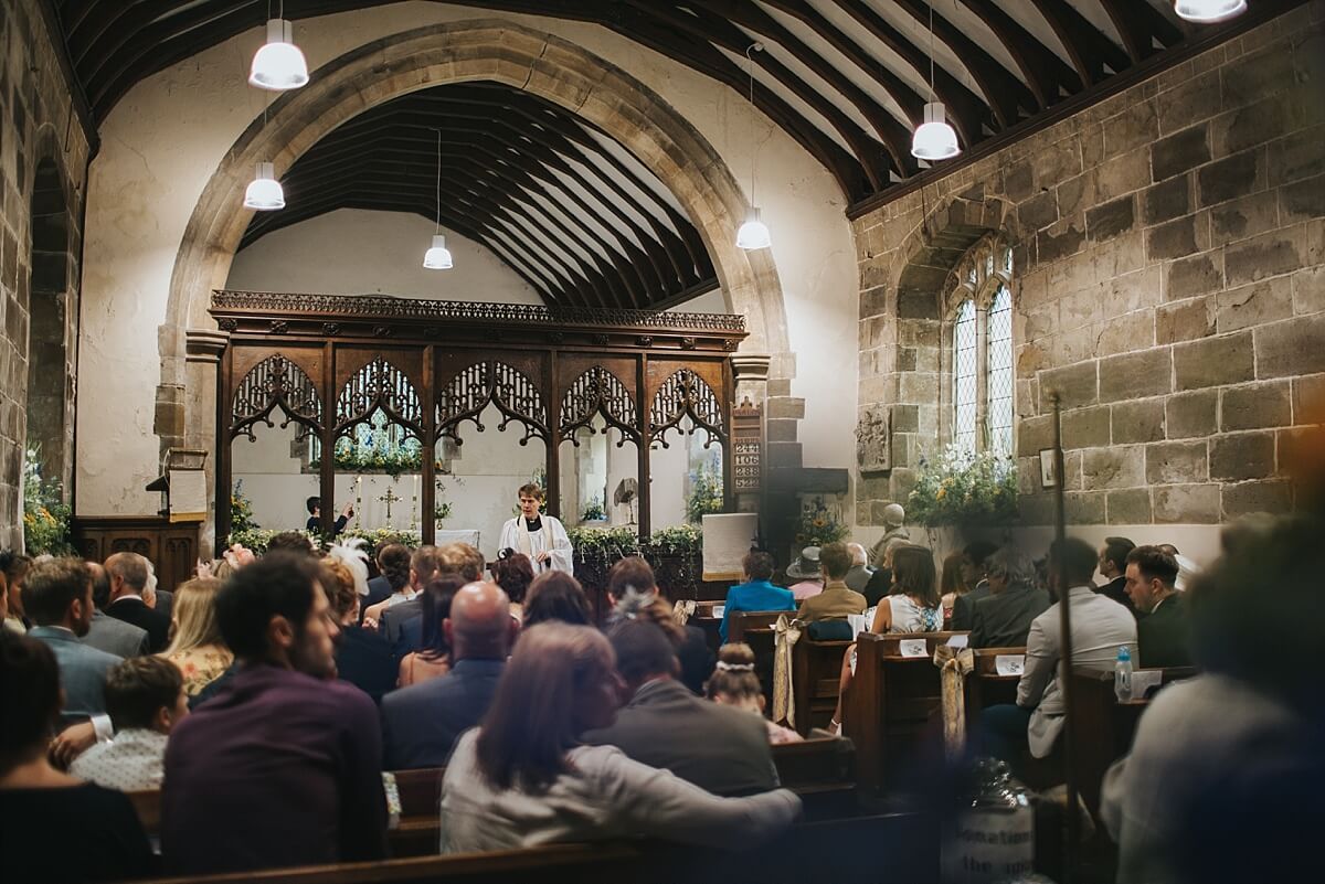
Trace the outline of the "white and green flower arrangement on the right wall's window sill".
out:
M 949 446 L 921 459 L 906 516 L 918 524 L 1006 524 L 1016 519 L 1016 461 L 992 451 Z

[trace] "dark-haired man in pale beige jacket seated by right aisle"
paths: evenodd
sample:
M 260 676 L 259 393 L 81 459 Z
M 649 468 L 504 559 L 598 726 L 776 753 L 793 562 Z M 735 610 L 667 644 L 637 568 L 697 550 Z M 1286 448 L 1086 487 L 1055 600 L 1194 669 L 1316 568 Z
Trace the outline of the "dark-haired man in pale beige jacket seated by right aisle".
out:
M 1090 578 L 1096 558 L 1096 551 L 1084 540 L 1055 541 L 1049 547 L 1049 581 L 1060 598 L 1067 590 L 1072 605 L 1072 664 L 1079 670 L 1110 672 L 1118 646 L 1125 644 L 1132 659 L 1137 658 L 1137 622 L 1126 607 L 1094 592 Z M 1067 588 L 1060 585 L 1060 576 Z M 1022 746 L 1027 745 L 1036 758 L 1047 757 L 1063 730 L 1060 603 L 1051 605 L 1031 623 L 1016 705 L 990 707 L 980 715 L 986 752 L 1004 761 L 1016 762 Z

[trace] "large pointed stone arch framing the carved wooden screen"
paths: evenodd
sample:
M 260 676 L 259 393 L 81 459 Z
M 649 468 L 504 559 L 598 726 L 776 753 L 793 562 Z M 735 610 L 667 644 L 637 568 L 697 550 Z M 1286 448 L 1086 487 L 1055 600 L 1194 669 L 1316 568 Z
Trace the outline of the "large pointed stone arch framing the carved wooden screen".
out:
M 501 82 L 555 102 L 652 168 L 698 228 L 729 307 L 746 318 L 750 336 L 742 355 L 788 352 L 772 257 L 767 250 L 735 247 L 747 209 L 745 195 L 722 157 L 685 118 L 624 70 L 560 37 L 497 19 L 429 25 L 364 44 L 319 67 L 307 86 L 272 106 L 265 123 L 254 119 L 213 172 L 193 208 L 171 274 L 158 392 L 156 431 L 163 449 L 179 445 L 186 426 L 193 447 L 211 447 L 211 430 L 204 429 L 211 402 L 191 393 L 189 421 L 184 421 L 182 393 L 186 384 L 196 385 L 195 375 L 186 369 L 186 331 L 215 327 L 207 304 L 211 291 L 224 286 L 248 225 L 250 213 L 240 197 L 254 163 L 270 160 L 280 175 L 327 132 L 368 107 L 429 86 L 473 79 Z M 189 359 L 204 361 L 216 349 L 215 335 L 193 337 L 199 343 L 188 347 L 193 351 Z M 787 372 L 790 360 L 775 359 L 774 365 Z

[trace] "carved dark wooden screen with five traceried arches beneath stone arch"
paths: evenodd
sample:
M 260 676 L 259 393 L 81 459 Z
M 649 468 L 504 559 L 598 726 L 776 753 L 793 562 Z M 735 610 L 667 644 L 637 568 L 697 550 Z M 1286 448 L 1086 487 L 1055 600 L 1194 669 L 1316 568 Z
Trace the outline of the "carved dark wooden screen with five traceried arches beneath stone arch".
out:
M 236 291 L 211 312 L 217 539 L 321 502 L 325 535 L 352 511 L 351 535 L 465 532 L 492 560 L 529 482 L 567 528 L 733 509 L 741 316 Z

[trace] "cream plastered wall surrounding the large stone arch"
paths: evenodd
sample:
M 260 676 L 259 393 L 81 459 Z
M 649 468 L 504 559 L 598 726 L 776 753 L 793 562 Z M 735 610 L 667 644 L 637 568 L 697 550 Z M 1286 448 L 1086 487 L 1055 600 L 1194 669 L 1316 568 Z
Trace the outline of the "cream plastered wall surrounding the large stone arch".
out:
M 392 33 L 425 24 L 493 19 L 433 3 L 400 3 L 295 24 L 315 69 Z M 661 94 L 746 183 L 758 169 L 758 202 L 787 298 L 798 353 L 792 393 L 807 400 L 807 466 L 849 467 L 856 412 L 856 261 L 836 183 L 749 103 L 639 44 L 596 25 L 505 16 L 598 53 Z M 245 83 L 262 32 L 246 33 L 134 86 L 102 123 L 85 229 L 78 372 L 80 515 L 155 512 L 143 486 L 158 472 L 152 433 L 160 381 L 156 328 L 175 255 L 217 163 L 262 112 L 265 93 Z M 754 152 L 754 157 L 751 157 Z M 241 199 L 236 191 L 236 199 Z M 323 255 L 325 257 L 325 255 Z M 415 258 L 411 257 L 411 263 Z M 302 271 L 301 271 L 302 273 Z M 853 512 L 851 502 L 847 511 Z

